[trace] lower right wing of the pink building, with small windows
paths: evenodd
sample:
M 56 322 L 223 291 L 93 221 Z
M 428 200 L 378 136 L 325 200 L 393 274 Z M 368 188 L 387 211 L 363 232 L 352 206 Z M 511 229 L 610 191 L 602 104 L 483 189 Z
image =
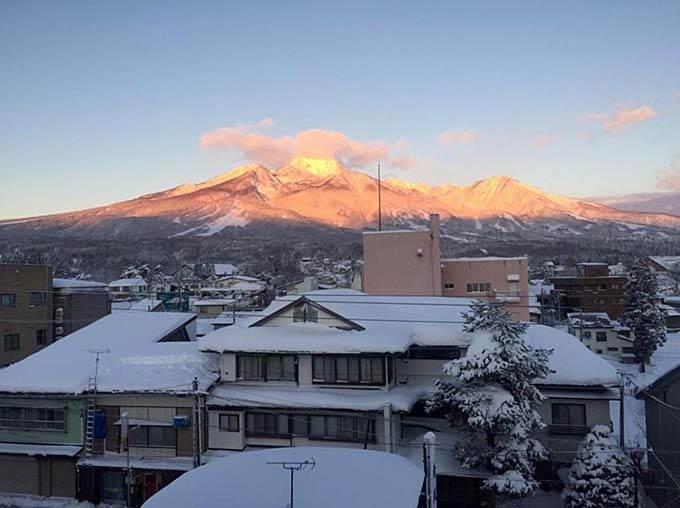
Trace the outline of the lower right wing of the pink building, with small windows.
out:
M 442 295 L 488 297 L 468 291 L 468 284 L 488 283 L 494 301 L 505 302 L 517 320 L 529 320 L 529 262 L 522 258 L 450 258 L 442 260 Z

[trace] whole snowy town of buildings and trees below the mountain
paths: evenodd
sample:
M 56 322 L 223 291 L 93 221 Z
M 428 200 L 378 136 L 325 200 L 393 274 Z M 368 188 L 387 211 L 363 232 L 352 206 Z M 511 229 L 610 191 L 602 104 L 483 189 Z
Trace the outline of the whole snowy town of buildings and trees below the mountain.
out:
M 253 460 L 282 495 L 295 464 L 300 499 L 375 497 L 374 461 L 390 506 L 680 495 L 680 256 L 532 279 L 526 256 L 443 257 L 433 214 L 365 231 L 361 260 L 300 259 L 302 280 L 229 261 L 110 282 L 0 264 L 0 506 L 215 506 L 215 475 L 246 506 Z

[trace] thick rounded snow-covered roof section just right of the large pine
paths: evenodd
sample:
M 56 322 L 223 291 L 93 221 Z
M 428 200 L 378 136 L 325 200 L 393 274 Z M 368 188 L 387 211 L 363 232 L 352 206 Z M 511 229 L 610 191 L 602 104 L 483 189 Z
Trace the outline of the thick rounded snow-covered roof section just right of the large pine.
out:
M 618 382 L 611 364 L 593 354 L 573 335 L 545 325 L 532 325 L 525 337 L 533 348 L 553 350 L 549 366 L 554 372 L 537 384 L 611 386 Z

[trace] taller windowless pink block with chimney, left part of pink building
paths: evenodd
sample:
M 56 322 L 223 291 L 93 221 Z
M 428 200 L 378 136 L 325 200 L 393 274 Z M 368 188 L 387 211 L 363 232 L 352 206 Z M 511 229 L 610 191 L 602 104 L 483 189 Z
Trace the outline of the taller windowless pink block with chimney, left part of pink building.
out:
M 429 231 L 364 233 L 363 249 L 366 293 L 441 296 L 438 216 Z

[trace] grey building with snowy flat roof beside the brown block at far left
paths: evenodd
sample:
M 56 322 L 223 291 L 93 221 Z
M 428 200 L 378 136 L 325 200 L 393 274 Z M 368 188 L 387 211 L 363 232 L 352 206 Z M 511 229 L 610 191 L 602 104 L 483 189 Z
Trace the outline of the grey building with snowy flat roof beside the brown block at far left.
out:
M 111 314 L 109 286 L 80 279 L 52 279 L 55 340 Z

